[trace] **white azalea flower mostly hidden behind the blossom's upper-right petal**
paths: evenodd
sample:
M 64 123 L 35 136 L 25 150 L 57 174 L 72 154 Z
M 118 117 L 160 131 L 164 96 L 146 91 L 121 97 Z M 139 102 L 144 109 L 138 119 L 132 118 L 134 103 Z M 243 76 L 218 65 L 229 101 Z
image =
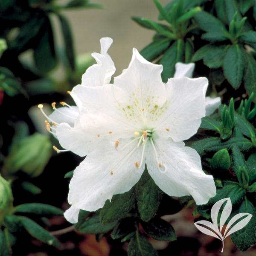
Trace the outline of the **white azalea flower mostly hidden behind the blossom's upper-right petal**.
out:
M 175 64 L 175 74 L 174 78 L 180 78 L 183 76 L 192 78 L 193 71 L 195 69 L 195 63 L 181 63 L 178 62 Z M 218 107 L 221 105 L 220 97 L 205 97 L 205 110 L 206 116 L 211 115 Z

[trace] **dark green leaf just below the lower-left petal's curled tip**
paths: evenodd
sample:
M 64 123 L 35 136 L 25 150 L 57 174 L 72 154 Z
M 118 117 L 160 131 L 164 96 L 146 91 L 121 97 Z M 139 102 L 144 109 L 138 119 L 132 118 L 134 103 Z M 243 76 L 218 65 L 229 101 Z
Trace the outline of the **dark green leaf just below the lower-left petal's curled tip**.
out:
M 94 215 L 88 220 L 84 221 L 78 228 L 78 231 L 82 234 L 98 234 L 108 233 L 116 226 L 117 222 L 111 222 L 106 225 L 102 225 L 99 221 L 99 215 Z

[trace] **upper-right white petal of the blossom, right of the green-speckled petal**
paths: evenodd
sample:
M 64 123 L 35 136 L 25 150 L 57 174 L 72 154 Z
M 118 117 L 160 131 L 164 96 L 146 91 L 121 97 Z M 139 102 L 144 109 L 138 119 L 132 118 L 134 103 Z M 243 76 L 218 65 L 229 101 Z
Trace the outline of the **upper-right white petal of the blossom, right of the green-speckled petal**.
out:
M 194 135 L 205 116 L 206 78 L 169 79 L 166 84 L 167 101 L 157 119 L 155 130 L 161 137 L 174 141 L 189 139 Z

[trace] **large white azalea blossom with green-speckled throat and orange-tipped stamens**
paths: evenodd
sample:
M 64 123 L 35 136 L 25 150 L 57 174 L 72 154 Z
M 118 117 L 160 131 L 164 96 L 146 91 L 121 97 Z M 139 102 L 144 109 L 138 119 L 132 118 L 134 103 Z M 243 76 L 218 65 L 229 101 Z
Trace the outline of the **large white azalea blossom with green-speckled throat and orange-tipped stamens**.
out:
M 133 49 L 128 68 L 110 84 L 112 42 L 100 40 L 101 52 L 93 53 L 97 64 L 70 92 L 76 106 L 62 102 L 65 107 L 55 108 L 53 103 L 55 111 L 46 121 L 64 151 L 86 156 L 70 181 L 71 207 L 65 217 L 76 223 L 80 209 L 95 211 L 113 195 L 129 191 L 145 164 L 166 194 L 192 195 L 196 204 L 206 204 L 215 195 L 213 177 L 203 172 L 200 156 L 183 140 L 197 132 L 205 116 L 207 79 L 182 76 L 164 84 L 162 65 Z

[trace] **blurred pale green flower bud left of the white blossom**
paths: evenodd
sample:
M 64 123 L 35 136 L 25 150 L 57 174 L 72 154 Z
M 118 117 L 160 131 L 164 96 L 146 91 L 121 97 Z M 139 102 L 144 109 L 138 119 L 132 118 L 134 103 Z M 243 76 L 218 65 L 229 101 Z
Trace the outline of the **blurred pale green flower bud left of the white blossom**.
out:
M 52 145 L 49 137 L 35 133 L 12 146 L 4 162 L 3 174 L 10 177 L 21 170 L 31 177 L 37 177 L 43 172 L 51 155 Z

